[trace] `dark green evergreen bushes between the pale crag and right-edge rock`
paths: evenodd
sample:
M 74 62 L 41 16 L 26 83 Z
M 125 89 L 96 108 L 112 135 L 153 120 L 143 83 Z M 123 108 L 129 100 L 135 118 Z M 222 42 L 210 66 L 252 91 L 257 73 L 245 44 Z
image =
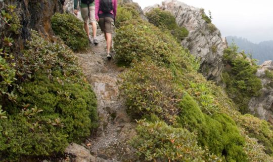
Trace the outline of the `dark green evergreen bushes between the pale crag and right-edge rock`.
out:
M 223 61 L 227 67 L 222 73 L 222 80 L 226 85 L 226 92 L 238 104 L 240 111 L 247 113 L 250 98 L 259 96 L 262 85 L 255 75 L 255 62 L 247 60 L 244 52 L 238 53 L 237 50 L 236 45 L 224 49 Z

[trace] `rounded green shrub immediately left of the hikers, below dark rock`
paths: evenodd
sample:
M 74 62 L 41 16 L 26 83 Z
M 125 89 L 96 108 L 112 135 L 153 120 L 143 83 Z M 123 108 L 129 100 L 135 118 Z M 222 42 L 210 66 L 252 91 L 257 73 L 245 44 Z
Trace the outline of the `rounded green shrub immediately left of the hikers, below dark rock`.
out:
M 52 29 L 73 51 L 88 47 L 88 38 L 83 30 L 83 23 L 72 14 L 56 13 L 52 19 Z

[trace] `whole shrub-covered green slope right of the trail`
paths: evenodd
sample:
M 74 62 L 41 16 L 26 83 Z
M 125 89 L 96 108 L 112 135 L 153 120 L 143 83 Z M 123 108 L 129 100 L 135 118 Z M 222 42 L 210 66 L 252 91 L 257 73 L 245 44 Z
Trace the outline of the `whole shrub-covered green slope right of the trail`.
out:
M 197 72 L 198 62 L 173 36 L 142 20 L 124 21 L 114 47 L 116 59 L 129 67 L 120 89 L 129 114 L 139 120 L 131 143 L 142 160 L 272 160 L 264 144 L 272 144 L 269 125 L 241 115 L 222 88 Z M 254 119 L 255 126 L 246 122 Z

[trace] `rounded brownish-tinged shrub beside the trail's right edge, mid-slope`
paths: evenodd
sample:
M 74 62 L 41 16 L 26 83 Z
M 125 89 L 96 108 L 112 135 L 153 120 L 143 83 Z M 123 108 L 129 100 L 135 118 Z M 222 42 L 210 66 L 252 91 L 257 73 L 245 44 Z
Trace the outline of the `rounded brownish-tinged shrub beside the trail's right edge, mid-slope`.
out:
M 120 89 L 132 116 L 156 114 L 169 122 L 179 112 L 179 93 L 173 88 L 173 76 L 167 68 L 144 60 L 133 64 L 121 78 Z

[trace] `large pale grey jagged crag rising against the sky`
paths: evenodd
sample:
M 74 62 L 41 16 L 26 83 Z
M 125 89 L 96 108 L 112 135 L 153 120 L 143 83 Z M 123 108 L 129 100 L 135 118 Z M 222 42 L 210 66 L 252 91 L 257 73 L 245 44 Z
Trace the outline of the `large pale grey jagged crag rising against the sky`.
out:
M 162 5 L 147 7 L 144 12 L 160 8 L 171 12 L 179 26 L 189 30 L 189 36 L 181 42 L 193 55 L 201 58 L 200 70 L 207 79 L 220 81 L 223 70 L 223 42 L 220 31 L 202 18 L 202 9 L 188 6 L 176 0 L 167 0 Z

